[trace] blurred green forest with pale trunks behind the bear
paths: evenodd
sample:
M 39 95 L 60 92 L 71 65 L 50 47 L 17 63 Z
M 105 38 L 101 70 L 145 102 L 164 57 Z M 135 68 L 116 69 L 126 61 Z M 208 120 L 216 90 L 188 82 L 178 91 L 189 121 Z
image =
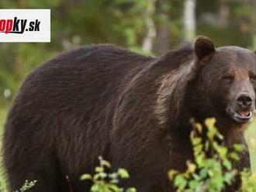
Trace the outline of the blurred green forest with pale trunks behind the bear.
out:
M 255 0 L 1 0 L 0 9 L 51 9 L 51 43 L 0 43 L 0 130 L 26 74 L 64 50 L 113 43 L 158 55 L 209 36 L 256 50 Z M 256 125 L 247 132 L 256 171 Z

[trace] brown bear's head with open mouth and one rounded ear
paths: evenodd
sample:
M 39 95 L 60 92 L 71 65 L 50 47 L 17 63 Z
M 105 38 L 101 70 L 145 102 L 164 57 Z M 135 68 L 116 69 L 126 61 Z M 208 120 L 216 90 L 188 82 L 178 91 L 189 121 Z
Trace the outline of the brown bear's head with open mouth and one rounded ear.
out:
M 215 48 L 204 36 L 193 46 L 199 72 L 190 83 L 191 110 L 200 118 L 216 117 L 229 129 L 243 128 L 255 111 L 256 53 L 237 46 Z

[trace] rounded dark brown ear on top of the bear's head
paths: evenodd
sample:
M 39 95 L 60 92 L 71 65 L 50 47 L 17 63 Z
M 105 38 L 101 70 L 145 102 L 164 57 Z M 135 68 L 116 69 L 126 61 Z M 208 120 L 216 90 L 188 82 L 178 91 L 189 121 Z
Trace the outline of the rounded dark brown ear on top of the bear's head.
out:
M 215 47 L 211 39 L 206 36 L 198 36 L 194 43 L 195 55 L 202 60 L 215 52 Z

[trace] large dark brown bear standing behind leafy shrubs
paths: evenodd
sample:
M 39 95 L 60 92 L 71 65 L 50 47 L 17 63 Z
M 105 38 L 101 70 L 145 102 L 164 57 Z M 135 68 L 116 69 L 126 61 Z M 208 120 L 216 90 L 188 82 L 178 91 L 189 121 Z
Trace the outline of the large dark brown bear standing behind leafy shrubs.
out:
M 190 119 L 215 117 L 225 145 L 246 146 L 255 89 L 255 53 L 203 36 L 161 57 L 112 45 L 71 50 L 29 74 L 16 95 L 3 144 L 9 189 L 37 180 L 31 191 L 88 191 L 79 177 L 103 156 L 130 172 L 123 187 L 174 191 L 168 170 L 193 158 Z M 247 150 L 235 166 L 250 167 Z

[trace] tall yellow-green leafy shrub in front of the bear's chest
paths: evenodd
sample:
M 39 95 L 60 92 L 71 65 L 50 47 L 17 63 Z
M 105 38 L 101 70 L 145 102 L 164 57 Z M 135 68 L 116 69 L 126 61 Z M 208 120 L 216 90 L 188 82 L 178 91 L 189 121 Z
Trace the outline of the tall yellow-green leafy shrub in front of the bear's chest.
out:
M 169 177 L 178 191 L 222 191 L 237 175 L 232 161 L 239 160 L 244 146 L 235 144 L 232 149 L 222 146 L 223 136 L 217 132 L 215 119 L 206 119 L 206 132 L 202 125 L 193 122 L 191 133 L 195 162 L 187 161 L 187 170 L 180 173 L 171 170 Z

